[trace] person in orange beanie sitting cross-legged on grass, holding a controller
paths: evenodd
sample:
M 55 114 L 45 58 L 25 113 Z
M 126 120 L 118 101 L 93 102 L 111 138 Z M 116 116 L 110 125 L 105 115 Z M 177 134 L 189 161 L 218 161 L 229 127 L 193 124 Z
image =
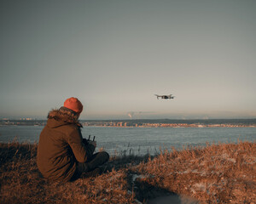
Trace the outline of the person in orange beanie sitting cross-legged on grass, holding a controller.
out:
M 97 167 L 108 161 L 105 151 L 93 154 L 96 141 L 82 138 L 79 123 L 82 111 L 82 103 L 73 97 L 59 110 L 49 111 L 38 142 L 37 163 L 44 178 L 73 180 L 83 172 L 96 172 L 100 169 Z

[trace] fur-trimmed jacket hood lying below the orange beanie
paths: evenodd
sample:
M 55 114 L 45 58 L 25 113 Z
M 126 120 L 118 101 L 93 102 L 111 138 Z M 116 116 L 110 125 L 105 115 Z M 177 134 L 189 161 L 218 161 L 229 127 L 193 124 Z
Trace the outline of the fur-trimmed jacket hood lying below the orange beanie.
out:
M 79 123 L 78 116 L 73 114 L 72 111 L 54 109 L 49 111 L 47 118 L 47 126 L 49 127 L 60 127 L 67 124 L 74 124 L 78 127 L 83 127 L 81 123 Z

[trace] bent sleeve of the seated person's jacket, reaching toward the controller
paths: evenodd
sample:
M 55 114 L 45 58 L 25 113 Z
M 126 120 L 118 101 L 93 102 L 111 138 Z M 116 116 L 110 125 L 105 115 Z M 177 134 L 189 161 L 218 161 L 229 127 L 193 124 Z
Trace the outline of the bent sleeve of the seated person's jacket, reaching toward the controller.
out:
M 95 146 L 92 144 L 84 145 L 79 129 L 74 130 L 71 135 L 69 135 L 67 143 L 73 150 L 73 155 L 76 157 L 76 160 L 81 163 L 86 162 L 90 156 L 93 155 L 95 150 Z

